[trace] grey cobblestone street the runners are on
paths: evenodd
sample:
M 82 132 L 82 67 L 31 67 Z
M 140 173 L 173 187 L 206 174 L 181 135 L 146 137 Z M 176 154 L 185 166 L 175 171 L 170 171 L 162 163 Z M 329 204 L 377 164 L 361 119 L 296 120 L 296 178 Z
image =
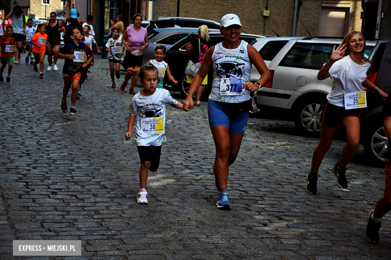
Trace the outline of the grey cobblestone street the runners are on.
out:
M 221 211 L 207 103 L 187 113 L 168 106 L 172 123 L 160 168 L 149 174 L 149 204 L 137 204 L 139 157 L 133 138 L 124 139 L 132 95 L 119 90 L 123 73 L 110 88 L 108 60 L 95 60 L 76 116 L 60 109 L 61 69 L 45 68 L 39 79 L 22 62 L 12 84 L 0 84 L 0 259 L 391 258 L 390 215 L 378 244 L 364 237 L 383 168 L 367 166 L 360 146 L 342 190 L 330 169 L 344 143 L 334 140 L 318 194 L 307 193 L 318 139 L 269 119 L 271 111 L 249 119 L 230 169 L 233 210 Z M 14 239 L 81 239 L 82 256 L 14 257 Z

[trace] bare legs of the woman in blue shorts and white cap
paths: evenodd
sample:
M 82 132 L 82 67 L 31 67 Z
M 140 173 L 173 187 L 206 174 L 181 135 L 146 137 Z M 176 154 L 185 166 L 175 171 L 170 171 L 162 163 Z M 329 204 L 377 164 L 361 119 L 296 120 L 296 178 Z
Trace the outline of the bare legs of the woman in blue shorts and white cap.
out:
M 215 177 L 221 189 L 227 188 L 229 166 L 238 156 L 243 134 L 232 134 L 226 126 L 212 128 L 213 139 L 216 145 Z

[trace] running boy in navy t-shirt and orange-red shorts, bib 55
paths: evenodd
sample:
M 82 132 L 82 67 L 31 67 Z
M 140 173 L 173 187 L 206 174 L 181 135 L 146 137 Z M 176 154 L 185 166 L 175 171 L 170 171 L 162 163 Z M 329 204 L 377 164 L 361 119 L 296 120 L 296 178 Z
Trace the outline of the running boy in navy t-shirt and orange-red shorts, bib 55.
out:
M 71 42 L 62 47 L 57 53 L 58 58 L 65 58 L 63 67 L 64 89 L 63 98 L 61 100 L 61 110 L 64 113 L 66 113 L 68 110 L 67 95 L 69 89 L 72 87 L 71 109 L 69 114 L 75 115 L 77 88 L 83 70 L 83 64 L 87 61 L 87 55 L 85 55 L 86 44 L 80 42 L 82 36 L 77 27 L 70 27 L 66 30 L 65 33 L 66 36 L 71 39 Z

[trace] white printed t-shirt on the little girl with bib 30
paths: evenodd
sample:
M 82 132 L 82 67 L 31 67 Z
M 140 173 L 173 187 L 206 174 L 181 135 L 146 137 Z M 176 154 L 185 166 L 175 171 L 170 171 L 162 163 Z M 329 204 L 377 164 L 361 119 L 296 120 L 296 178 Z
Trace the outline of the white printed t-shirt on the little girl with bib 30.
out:
M 130 114 L 137 115 L 135 126 L 136 145 L 140 146 L 159 146 L 163 141 L 166 141 L 165 134 L 146 134 L 141 131 L 140 117 L 163 117 L 165 124 L 165 105 L 178 104 L 172 98 L 167 89 L 156 88 L 156 91 L 150 96 L 141 95 L 141 91 L 135 94 L 132 102 L 129 105 Z

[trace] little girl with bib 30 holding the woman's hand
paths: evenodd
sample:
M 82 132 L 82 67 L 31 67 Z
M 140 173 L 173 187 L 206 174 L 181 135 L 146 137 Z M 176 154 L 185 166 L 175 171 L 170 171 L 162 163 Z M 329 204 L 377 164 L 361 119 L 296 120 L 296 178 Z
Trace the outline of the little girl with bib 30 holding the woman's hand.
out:
M 146 197 L 146 182 L 148 169 L 155 172 L 160 163 L 161 144 L 166 140 L 165 105 L 183 109 L 183 104 L 176 101 L 167 89 L 157 88 L 159 83 L 158 69 L 152 64 L 144 64 L 140 67 L 140 83 L 144 89 L 136 93 L 129 105 L 130 115 L 125 139 L 129 140 L 132 134 L 134 121 L 137 118 L 135 139 L 138 154 L 140 156 L 140 190 L 137 195 L 137 203 L 148 204 Z M 183 109 L 184 110 L 184 109 Z

